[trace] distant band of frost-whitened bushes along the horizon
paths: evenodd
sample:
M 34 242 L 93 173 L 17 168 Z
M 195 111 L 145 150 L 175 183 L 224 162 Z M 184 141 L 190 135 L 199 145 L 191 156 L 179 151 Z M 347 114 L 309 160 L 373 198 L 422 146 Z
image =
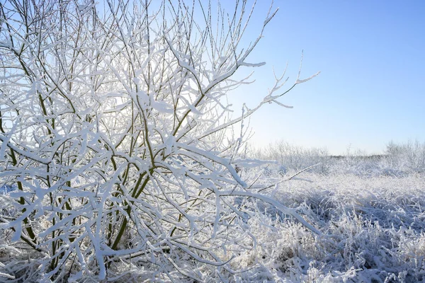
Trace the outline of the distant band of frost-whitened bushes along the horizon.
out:
M 364 151 L 347 151 L 344 156 L 331 156 L 326 149 L 303 148 L 278 141 L 263 149 L 251 149 L 251 156 L 277 163 L 265 167 L 265 175 L 293 173 L 313 166 L 310 173 L 353 174 L 373 178 L 402 177 L 425 172 L 425 144 L 419 141 L 395 144 L 390 142 L 383 154 L 370 155 Z

